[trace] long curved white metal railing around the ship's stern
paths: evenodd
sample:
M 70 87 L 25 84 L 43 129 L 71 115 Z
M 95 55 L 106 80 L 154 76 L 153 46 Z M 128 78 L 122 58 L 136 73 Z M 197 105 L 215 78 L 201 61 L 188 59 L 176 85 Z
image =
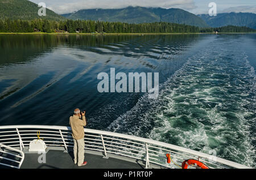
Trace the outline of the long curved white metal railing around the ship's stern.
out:
M 65 126 L 0 126 L 0 143 L 23 150 L 31 140 L 38 139 L 38 131 L 48 147 L 64 147 L 66 151 L 73 147 L 71 127 Z M 223 158 L 156 140 L 87 128 L 84 131 L 85 149 L 102 152 L 105 157 L 112 154 L 142 160 L 146 168 L 150 168 L 150 164 L 180 168 L 182 162 L 189 158 L 200 160 L 209 168 L 249 168 Z M 170 164 L 166 162 L 167 153 L 171 155 Z

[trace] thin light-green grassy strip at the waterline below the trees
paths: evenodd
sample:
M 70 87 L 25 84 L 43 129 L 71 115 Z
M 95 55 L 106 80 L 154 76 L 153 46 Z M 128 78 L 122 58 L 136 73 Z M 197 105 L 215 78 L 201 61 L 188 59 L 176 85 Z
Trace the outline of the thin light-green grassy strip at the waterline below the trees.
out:
M 218 34 L 255 34 L 256 32 L 219 32 Z M 0 32 L 0 35 L 216 35 L 212 32 L 198 33 L 46 33 L 46 32 Z

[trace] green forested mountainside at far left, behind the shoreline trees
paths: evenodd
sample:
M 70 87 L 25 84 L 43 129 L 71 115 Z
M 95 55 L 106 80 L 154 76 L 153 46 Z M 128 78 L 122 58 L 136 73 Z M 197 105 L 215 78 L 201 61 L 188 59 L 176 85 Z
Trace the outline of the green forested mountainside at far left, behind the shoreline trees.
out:
M 37 4 L 27 0 L 0 0 L 0 19 L 31 20 L 36 18 L 49 20 L 64 20 L 63 16 L 57 15 L 51 10 L 46 10 L 46 16 L 39 16 Z

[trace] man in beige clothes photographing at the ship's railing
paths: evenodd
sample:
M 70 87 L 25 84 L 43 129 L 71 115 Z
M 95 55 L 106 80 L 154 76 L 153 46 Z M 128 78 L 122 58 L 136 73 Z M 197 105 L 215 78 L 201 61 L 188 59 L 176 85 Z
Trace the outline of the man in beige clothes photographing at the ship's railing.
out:
M 69 125 L 72 129 L 74 139 L 74 162 L 78 166 L 84 166 L 84 126 L 86 126 L 85 111 L 75 109 L 74 115 L 69 118 Z M 78 161 L 77 161 L 78 160 Z

